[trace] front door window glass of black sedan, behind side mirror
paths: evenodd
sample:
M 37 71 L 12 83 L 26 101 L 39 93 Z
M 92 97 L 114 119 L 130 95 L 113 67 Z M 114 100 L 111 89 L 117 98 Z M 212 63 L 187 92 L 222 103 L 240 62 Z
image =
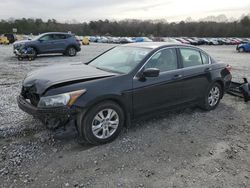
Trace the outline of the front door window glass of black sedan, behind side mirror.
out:
M 157 52 L 145 65 L 145 68 L 157 68 L 160 72 L 178 68 L 176 50 L 174 48 Z

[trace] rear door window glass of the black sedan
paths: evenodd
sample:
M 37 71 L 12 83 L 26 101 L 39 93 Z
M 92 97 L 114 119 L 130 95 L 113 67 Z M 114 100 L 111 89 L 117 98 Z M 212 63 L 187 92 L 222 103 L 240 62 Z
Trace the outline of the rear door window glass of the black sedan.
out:
M 200 52 L 189 48 L 180 48 L 183 67 L 202 65 Z

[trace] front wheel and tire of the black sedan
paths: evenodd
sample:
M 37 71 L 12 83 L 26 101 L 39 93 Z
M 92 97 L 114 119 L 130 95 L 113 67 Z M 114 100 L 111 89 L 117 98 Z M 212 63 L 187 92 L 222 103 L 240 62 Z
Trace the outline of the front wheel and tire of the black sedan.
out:
M 108 117 L 109 115 L 111 117 Z M 105 101 L 95 105 L 88 112 L 80 114 L 77 128 L 83 140 L 89 144 L 99 145 L 116 139 L 124 121 L 122 108 L 112 101 Z

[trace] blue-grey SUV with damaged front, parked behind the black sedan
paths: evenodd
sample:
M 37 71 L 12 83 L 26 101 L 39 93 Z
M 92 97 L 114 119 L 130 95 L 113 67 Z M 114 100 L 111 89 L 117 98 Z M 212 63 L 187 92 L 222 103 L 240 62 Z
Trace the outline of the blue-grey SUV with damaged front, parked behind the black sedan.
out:
M 23 48 L 32 48 L 35 56 L 49 53 L 63 53 L 64 55 L 75 56 L 81 50 L 81 44 L 72 34 L 51 32 L 41 34 L 32 40 L 15 42 L 13 48 L 14 54 L 18 54 L 18 51 Z

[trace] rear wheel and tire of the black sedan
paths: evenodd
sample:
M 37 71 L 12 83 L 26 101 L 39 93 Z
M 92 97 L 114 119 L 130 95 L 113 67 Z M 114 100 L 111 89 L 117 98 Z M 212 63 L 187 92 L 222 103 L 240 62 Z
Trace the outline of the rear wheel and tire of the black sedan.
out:
M 207 111 L 214 110 L 220 103 L 222 93 L 222 87 L 219 83 L 216 82 L 210 86 L 203 99 L 202 109 Z

